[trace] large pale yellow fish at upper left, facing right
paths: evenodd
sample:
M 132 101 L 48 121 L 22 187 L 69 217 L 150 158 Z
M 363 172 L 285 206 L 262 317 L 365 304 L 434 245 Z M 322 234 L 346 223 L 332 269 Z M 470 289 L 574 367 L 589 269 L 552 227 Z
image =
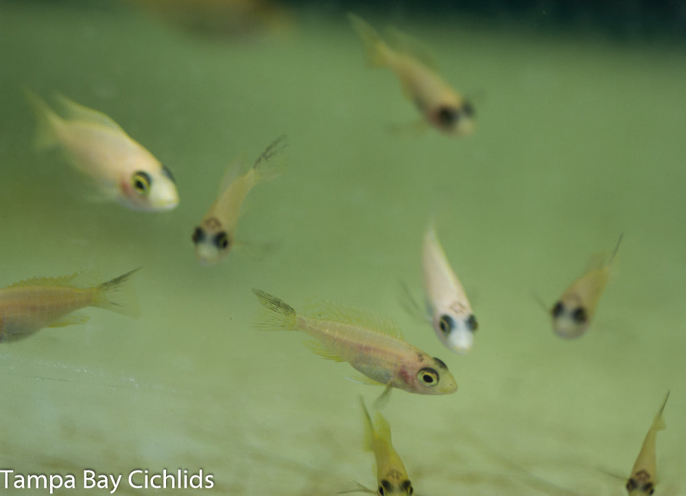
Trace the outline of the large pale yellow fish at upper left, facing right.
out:
M 178 205 L 171 171 L 110 117 L 58 95 L 66 116 L 60 117 L 34 93 L 26 93 L 38 116 L 38 147 L 60 147 L 95 182 L 97 196 L 142 211 Z

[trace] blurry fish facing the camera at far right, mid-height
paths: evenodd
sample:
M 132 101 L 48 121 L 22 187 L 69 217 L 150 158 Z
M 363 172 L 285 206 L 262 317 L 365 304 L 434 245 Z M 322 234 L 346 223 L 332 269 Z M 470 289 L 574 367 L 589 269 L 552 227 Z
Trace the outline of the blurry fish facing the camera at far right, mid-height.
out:
M 623 235 L 606 263 L 594 261 L 591 269 L 571 283 L 552 307 L 553 330 L 560 338 L 578 338 L 589 328 L 598 301 L 610 279 L 612 261 L 617 255 Z

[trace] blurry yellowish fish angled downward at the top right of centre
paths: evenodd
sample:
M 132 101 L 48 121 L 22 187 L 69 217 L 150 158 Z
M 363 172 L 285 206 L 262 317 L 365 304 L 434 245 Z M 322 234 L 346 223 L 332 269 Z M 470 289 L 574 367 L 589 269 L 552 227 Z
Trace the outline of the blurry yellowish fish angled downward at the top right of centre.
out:
M 348 18 L 362 38 L 370 65 L 390 68 L 399 78 L 405 96 L 414 102 L 429 123 L 454 136 L 474 132 L 473 106 L 430 69 L 430 64 L 412 54 L 392 49 L 373 27 L 355 14 L 348 14 Z

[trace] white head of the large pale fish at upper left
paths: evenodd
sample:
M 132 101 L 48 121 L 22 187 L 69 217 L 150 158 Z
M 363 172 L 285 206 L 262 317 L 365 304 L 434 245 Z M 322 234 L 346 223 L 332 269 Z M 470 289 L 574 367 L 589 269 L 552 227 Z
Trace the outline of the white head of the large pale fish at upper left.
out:
M 165 211 L 178 205 L 174 175 L 164 165 L 136 167 L 121 181 L 121 200 L 134 210 Z

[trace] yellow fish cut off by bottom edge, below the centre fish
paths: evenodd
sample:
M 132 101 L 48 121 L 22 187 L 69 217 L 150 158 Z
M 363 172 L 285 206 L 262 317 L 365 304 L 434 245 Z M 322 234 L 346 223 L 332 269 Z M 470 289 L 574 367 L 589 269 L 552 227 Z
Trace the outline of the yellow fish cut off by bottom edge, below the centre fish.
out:
M 412 482 L 407 476 L 405 465 L 393 448 L 390 425 L 381 413 L 377 412 L 376 422 L 362 403 L 365 426 L 365 447 L 374 453 L 377 465 L 377 494 L 383 496 L 409 496 L 414 494 Z M 372 492 L 372 491 L 370 491 Z

